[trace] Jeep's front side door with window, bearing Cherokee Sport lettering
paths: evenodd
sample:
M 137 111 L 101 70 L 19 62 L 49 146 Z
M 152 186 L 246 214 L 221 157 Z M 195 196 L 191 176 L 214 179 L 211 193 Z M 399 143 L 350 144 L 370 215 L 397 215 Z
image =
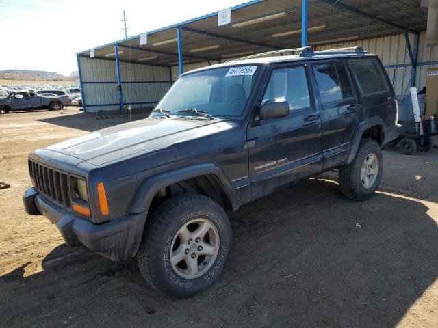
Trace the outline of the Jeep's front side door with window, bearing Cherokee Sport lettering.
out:
M 322 124 L 306 64 L 274 66 L 259 107 L 285 98 L 289 115 L 248 127 L 249 175 L 253 199 L 322 170 Z

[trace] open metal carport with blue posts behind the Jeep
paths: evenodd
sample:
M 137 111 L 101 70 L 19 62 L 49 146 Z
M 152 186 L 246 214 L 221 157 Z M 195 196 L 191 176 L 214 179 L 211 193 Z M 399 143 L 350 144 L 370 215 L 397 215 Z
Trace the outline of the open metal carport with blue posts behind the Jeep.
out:
M 229 12 L 226 25 L 212 12 L 149 31 L 143 45 L 133 36 L 77 53 L 84 110 L 151 107 L 183 71 L 297 46 L 364 46 L 381 56 L 399 96 L 422 85 L 418 67 L 438 65 L 437 47 L 424 45 L 420 0 L 253 0 Z

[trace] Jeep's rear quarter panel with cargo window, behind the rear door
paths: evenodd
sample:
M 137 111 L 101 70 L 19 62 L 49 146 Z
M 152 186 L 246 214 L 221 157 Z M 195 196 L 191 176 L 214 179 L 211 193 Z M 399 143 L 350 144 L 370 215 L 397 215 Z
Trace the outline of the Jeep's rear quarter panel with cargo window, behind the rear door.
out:
M 387 74 L 377 57 L 350 59 L 352 76 L 361 95 L 365 118 L 381 117 L 385 126 L 394 124 L 396 103 Z

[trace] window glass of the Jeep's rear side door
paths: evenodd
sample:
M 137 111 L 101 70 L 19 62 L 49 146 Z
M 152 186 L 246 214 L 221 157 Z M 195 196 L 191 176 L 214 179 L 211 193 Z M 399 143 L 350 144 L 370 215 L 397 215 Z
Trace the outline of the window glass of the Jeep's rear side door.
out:
M 350 82 L 342 62 L 313 65 L 321 102 L 332 102 L 352 96 Z

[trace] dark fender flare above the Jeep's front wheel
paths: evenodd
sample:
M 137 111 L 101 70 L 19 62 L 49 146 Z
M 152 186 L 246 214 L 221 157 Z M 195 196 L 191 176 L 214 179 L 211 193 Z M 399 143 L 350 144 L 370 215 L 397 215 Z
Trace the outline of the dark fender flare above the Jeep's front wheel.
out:
M 189 188 L 195 188 L 196 183 L 205 184 L 209 182 L 209 187 L 213 189 L 210 188 L 207 191 L 208 188 L 201 188 L 204 192 L 196 190 L 196 193 L 211 197 L 219 204 L 222 203 L 222 207 L 227 210 L 237 210 L 238 208 L 235 189 L 233 189 L 222 170 L 212 163 L 205 163 L 190 165 L 146 178 L 138 187 L 133 200 L 131 200 L 129 213 L 147 212 L 159 191 L 182 182 L 188 184 Z

